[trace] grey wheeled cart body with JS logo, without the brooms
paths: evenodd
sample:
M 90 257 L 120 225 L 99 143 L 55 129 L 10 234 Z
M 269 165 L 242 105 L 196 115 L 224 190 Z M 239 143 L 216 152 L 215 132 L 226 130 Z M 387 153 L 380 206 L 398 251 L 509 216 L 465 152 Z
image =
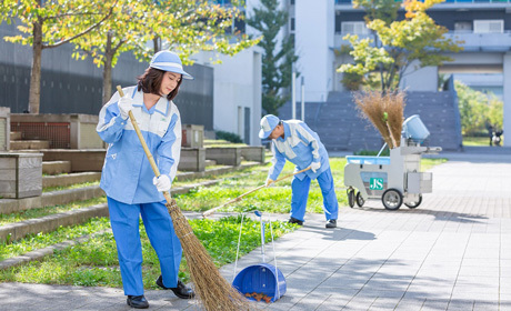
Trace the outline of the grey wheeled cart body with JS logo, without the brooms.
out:
M 348 156 L 344 167 L 344 184 L 351 208 L 362 207 L 367 200 L 381 199 L 388 210 L 397 210 L 402 203 L 410 209 L 419 207 L 422 193 L 431 193 L 433 174 L 421 172 L 422 154 L 438 154 L 440 147 L 422 147 L 430 136 L 418 114 L 403 122 L 401 146 L 390 150 L 390 157 Z

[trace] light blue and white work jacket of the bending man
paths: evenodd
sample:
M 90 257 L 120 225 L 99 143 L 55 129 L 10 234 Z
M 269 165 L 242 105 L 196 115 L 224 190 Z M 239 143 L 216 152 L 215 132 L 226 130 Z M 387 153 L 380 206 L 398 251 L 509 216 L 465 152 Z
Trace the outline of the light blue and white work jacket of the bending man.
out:
M 318 134 L 300 120 L 282 121 L 284 137 L 272 140 L 273 167 L 268 173 L 268 178 L 277 180 L 289 160 L 297 165 L 295 172 L 307 169 L 312 162 L 320 162 L 320 169 L 314 173 L 308 170 L 295 177 L 303 180 L 305 174 L 311 179 L 317 179 L 322 172 L 330 168 L 328 152 L 321 143 Z

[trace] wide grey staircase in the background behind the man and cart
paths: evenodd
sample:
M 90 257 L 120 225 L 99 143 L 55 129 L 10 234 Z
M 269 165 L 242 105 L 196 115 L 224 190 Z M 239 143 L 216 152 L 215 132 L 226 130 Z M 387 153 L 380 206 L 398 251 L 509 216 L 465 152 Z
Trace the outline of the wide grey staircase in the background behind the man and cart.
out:
M 442 147 L 443 150 L 460 149 L 452 93 L 409 92 L 405 101 L 404 118 L 420 114 L 430 131 L 425 144 Z M 300 110 L 298 104 L 297 118 L 301 116 Z M 279 110 L 279 118 L 291 119 L 290 102 Z M 307 102 L 305 123 L 330 151 L 378 151 L 383 146 L 380 132 L 369 120 L 360 117 L 351 92 L 330 92 L 325 102 Z

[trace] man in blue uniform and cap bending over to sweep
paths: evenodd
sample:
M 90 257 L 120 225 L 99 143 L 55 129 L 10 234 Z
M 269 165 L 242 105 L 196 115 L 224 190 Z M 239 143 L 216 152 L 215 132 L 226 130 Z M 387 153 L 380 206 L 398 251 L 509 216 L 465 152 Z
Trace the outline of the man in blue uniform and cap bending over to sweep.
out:
M 297 165 L 295 171 L 311 167 L 310 170 L 293 177 L 289 222 L 303 225 L 310 183 L 311 180 L 318 179 L 323 194 L 325 228 L 335 228 L 339 203 L 328 153 L 318 134 L 300 120 L 283 121 L 273 114 L 267 114 L 261 119 L 259 138 L 272 140 L 273 165 L 268 173 L 267 187 L 282 172 L 285 160 Z

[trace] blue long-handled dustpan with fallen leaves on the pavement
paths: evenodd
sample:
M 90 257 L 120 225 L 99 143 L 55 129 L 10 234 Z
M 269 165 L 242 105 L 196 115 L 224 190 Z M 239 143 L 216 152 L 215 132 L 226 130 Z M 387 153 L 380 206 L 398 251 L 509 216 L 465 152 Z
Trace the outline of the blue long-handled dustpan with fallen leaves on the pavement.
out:
M 238 265 L 238 252 L 234 263 L 234 280 L 232 287 L 238 289 L 250 300 L 264 300 L 265 302 L 274 302 L 280 299 L 287 291 L 285 278 L 282 272 L 277 268 L 277 257 L 273 243 L 273 230 L 270 221 L 271 241 L 273 244 L 273 262 L 275 265 L 269 264 L 264 260 L 264 222 L 262 221 L 262 213 L 254 211 L 259 217 L 261 223 L 261 257 L 262 262 L 244 268 L 236 275 L 236 268 Z M 240 224 L 240 238 L 243 229 L 243 218 Z M 240 240 L 238 240 L 238 250 Z

